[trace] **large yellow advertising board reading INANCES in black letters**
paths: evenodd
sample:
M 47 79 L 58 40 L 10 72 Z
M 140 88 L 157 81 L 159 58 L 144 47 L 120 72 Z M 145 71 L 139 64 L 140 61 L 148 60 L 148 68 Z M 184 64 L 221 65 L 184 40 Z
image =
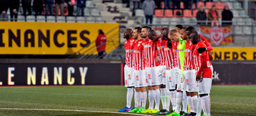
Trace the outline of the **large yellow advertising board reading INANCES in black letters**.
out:
M 0 22 L 0 54 L 71 55 L 84 47 L 88 51 L 96 49 L 98 30 L 107 33 L 108 40 L 119 33 L 119 24 Z

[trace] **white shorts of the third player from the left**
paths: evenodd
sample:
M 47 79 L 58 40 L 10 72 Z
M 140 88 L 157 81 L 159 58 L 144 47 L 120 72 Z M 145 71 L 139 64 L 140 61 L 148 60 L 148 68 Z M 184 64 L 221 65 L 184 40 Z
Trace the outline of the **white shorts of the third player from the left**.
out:
M 160 85 L 159 82 L 159 67 L 146 67 L 145 71 L 146 71 L 146 79 L 148 81 L 148 85 L 147 86 L 157 86 Z

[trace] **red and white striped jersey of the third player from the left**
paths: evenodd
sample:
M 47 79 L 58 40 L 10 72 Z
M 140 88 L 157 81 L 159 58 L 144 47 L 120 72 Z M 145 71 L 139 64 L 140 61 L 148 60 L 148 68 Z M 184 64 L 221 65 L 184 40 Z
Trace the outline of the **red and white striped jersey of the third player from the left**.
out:
M 149 38 L 145 39 L 144 56 L 145 56 L 145 66 L 146 67 L 159 66 L 159 63 L 156 62 L 156 59 L 155 59 L 157 57 L 156 42 L 153 42 Z

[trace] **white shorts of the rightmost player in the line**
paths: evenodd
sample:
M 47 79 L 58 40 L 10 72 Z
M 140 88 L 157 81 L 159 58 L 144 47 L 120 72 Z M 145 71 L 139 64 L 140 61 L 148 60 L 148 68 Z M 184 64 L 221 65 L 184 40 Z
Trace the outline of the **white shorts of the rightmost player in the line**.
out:
M 211 83 L 212 83 L 211 78 L 203 78 L 203 81 L 199 82 L 199 94 L 210 93 Z

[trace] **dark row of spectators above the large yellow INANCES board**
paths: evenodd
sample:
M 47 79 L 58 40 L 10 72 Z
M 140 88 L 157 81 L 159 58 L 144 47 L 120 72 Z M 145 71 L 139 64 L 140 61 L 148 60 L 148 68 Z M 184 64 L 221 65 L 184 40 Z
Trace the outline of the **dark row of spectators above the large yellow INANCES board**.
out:
M 77 5 L 77 16 L 84 16 L 86 0 L 0 0 L 0 20 L 8 20 L 9 10 L 11 21 L 17 21 L 20 6 L 25 17 L 32 13 L 35 16 L 73 16 L 74 5 Z

